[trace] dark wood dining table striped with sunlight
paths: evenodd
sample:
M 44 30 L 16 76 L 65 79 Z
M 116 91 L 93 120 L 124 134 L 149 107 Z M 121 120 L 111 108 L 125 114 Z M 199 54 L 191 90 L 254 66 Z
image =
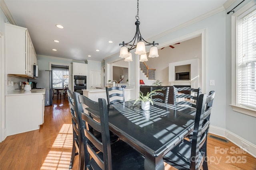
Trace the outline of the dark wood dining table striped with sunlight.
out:
M 196 109 L 154 102 L 145 111 L 133 103 L 108 105 L 109 129 L 144 154 L 145 170 L 164 170 L 163 156 L 193 130 Z

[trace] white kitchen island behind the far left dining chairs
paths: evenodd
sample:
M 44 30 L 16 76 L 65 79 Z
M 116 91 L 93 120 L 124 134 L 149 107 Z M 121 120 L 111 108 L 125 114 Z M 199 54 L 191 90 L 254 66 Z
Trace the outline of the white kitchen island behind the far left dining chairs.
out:
M 90 100 L 93 100 L 95 102 L 98 102 L 98 98 L 104 98 L 107 101 L 107 94 L 106 94 L 106 88 L 97 88 L 97 89 L 83 89 L 83 95 L 89 98 Z M 134 88 L 131 86 L 128 86 L 124 88 L 124 100 L 128 101 L 131 99 L 131 94 L 134 91 Z M 117 90 L 112 90 L 111 92 L 117 92 Z

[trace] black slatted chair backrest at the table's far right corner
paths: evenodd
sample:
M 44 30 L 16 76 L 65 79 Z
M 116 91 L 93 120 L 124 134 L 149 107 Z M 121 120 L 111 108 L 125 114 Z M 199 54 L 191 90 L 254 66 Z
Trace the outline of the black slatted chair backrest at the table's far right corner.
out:
M 181 93 L 181 94 L 180 94 Z M 186 94 L 184 94 L 186 93 Z M 174 87 L 174 104 L 188 105 L 196 108 L 198 97 L 201 94 L 201 88 Z

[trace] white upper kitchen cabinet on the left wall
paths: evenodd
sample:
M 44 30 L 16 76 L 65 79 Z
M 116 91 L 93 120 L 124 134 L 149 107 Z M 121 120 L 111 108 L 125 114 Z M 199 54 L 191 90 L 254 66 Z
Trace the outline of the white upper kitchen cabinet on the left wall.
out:
M 5 23 L 6 73 L 33 78 L 37 58 L 28 29 Z

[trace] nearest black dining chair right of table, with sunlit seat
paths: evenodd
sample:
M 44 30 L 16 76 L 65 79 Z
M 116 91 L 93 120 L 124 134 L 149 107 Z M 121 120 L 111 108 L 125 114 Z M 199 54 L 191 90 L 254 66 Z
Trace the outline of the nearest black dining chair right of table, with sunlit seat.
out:
M 179 170 L 208 170 L 207 135 L 210 126 L 210 113 L 215 92 L 210 95 L 200 94 L 196 107 L 192 141 L 184 140 L 164 156 L 164 162 Z

